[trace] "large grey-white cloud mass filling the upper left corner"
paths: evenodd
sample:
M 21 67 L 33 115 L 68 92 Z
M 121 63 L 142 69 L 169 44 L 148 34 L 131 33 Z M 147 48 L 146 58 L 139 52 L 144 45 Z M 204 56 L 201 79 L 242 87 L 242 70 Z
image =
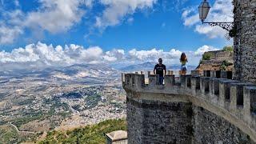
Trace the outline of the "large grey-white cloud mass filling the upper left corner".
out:
M 38 0 L 37 9 L 24 12 L 19 8 L 2 10 L 0 21 L 0 43 L 14 42 L 24 30 L 46 30 L 52 34 L 70 30 L 81 22 L 86 13 L 82 6 L 92 6 L 92 0 Z M 5 1 L 2 1 L 4 5 Z M 19 7 L 19 2 L 14 1 Z

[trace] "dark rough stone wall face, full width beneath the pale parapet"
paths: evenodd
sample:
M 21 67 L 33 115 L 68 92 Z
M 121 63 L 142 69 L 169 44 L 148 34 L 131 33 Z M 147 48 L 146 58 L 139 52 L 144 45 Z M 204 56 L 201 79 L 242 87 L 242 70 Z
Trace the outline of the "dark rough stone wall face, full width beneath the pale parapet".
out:
M 127 124 L 132 144 L 254 143 L 237 126 L 191 102 L 127 98 Z

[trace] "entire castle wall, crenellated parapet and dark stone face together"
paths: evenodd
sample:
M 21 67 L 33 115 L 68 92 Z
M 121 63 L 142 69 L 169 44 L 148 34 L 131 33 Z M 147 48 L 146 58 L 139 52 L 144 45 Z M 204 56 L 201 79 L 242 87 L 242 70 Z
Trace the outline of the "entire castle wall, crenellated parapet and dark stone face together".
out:
M 145 84 L 144 74 L 125 74 L 128 142 L 255 143 L 256 86 L 228 75 L 166 75 L 162 86 L 158 75 Z

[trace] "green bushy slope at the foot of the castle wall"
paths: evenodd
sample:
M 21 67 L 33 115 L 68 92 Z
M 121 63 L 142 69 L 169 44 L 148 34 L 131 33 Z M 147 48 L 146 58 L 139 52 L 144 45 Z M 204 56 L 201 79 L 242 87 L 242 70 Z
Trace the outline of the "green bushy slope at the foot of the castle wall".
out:
M 99 122 L 96 125 L 86 126 L 68 131 L 50 131 L 45 140 L 39 144 L 49 143 L 87 143 L 100 144 L 105 143 L 106 138 L 104 134 L 115 130 L 126 130 L 126 120 L 113 119 Z

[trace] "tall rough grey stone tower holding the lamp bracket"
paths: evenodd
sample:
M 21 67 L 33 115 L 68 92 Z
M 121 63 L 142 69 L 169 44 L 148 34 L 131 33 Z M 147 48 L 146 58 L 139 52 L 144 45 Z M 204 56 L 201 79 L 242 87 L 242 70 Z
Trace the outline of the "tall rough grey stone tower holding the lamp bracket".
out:
M 256 0 L 234 0 L 234 79 L 256 82 Z

